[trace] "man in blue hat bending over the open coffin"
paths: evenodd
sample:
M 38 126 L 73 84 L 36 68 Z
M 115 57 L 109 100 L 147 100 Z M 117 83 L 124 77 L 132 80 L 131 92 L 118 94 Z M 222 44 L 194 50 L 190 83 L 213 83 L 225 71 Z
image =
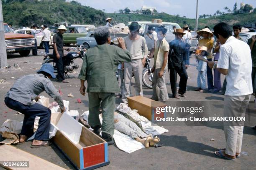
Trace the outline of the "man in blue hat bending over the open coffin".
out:
M 39 116 L 38 129 L 31 148 L 48 146 L 49 130 L 51 123 L 51 110 L 33 100 L 38 100 L 38 95 L 45 91 L 59 104 L 61 112 L 65 111 L 63 101 L 49 78 L 55 78 L 54 68 L 51 64 L 42 65 L 38 74 L 20 77 L 5 95 L 5 105 L 24 114 L 23 125 L 20 133 L 20 143 L 24 143 L 33 135 L 35 117 Z

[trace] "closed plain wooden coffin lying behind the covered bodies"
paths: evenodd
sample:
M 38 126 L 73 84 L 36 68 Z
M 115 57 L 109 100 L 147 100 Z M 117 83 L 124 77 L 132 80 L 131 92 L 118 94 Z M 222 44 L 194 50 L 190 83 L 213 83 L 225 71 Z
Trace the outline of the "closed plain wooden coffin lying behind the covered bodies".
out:
M 138 110 L 138 114 L 146 117 L 148 120 L 155 121 L 156 117 L 166 117 L 166 112 L 157 113 L 157 107 L 166 107 L 165 104 L 151 100 L 143 96 L 128 97 L 128 107 Z

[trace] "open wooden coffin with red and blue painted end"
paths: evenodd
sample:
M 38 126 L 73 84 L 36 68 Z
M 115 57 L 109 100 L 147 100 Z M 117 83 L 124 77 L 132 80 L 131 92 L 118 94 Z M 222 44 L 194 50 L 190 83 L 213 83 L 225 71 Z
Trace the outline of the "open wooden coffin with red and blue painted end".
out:
M 60 112 L 52 113 L 51 123 L 56 125 L 60 117 Z M 59 130 L 54 136 L 53 141 L 79 170 L 91 170 L 109 164 L 108 143 L 84 126 L 82 127 L 80 141 L 77 145 Z

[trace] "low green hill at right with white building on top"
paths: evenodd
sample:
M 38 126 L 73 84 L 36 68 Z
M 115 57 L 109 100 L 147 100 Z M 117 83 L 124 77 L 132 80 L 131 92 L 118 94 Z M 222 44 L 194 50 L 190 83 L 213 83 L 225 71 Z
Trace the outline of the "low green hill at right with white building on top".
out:
M 188 24 L 190 28 L 195 28 L 195 19 L 182 18 L 166 13 L 158 13 L 155 15 L 139 15 L 139 14 L 107 14 L 108 17 L 113 18 L 117 23 L 127 23 L 128 21 L 151 21 L 151 19 L 161 19 L 163 22 L 178 23 L 180 26 Z M 214 25 L 220 22 L 226 22 L 230 25 L 248 23 L 255 24 L 256 13 L 243 13 L 243 14 L 224 14 L 210 18 L 198 19 L 198 28 L 204 28 L 208 25 L 213 28 Z

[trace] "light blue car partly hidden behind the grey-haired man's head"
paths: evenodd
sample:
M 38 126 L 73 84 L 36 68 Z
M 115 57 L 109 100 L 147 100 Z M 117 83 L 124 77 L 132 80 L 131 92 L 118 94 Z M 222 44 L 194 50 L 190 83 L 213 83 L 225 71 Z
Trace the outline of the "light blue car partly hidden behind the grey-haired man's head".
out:
M 125 33 L 110 33 L 111 40 L 113 40 L 115 37 L 126 37 L 128 35 L 129 34 Z M 97 42 L 94 38 L 93 31 L 89 31 L 85 37 L 78 37 L 77 45 L 83 45 L 86 49 L 96 46 Z

